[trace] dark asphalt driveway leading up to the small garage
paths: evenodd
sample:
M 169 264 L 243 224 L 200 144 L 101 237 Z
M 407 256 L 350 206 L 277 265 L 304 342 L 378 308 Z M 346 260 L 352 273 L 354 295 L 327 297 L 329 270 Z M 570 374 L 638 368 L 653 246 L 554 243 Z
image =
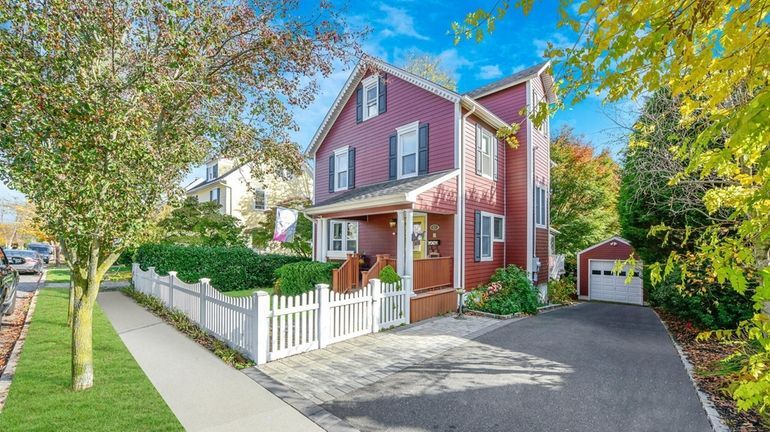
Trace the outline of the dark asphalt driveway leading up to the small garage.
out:
M 649 308 L 589 303 L 503 326 L 323 405 L 362 431 L 709 431 Z

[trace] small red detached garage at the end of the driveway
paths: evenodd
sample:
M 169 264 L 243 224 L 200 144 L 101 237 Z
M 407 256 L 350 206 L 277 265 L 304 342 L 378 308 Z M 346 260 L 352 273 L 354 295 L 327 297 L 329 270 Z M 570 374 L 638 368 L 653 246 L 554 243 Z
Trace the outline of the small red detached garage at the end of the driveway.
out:
M 628 265 L 620 272 L 614 272 L 616 261 L 625 261 L 634 256 L 637 269 L 627 283 L 630 272 Z M 612 237 L 580 251 L 578 264 L 578 298 L 618 303 L 644 304 L 642 286 L 642 263 L 628 240 Z

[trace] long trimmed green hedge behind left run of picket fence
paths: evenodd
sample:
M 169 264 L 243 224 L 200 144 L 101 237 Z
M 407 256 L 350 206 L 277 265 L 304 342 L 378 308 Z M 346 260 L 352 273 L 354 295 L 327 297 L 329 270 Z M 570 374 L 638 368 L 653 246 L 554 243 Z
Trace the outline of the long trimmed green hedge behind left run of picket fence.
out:
M 136 262 L 147 270 L 166 274 L 176 271 L 184 282 L 210 278 L 219 291 L 239 291 L 271 287 L 279 267 L 307 261 L 287 255 L 258 254 L 245 247 L 204 247 L 147 244 L 136 251 Z

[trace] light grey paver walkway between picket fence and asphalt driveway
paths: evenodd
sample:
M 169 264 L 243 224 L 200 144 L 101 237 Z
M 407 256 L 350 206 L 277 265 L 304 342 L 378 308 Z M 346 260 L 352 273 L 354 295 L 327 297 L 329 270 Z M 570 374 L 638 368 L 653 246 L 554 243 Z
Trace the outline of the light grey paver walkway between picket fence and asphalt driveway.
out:
M 316 404 L 368 386 L 510 321 L 436 318 L 361 336 L 258 367 Z

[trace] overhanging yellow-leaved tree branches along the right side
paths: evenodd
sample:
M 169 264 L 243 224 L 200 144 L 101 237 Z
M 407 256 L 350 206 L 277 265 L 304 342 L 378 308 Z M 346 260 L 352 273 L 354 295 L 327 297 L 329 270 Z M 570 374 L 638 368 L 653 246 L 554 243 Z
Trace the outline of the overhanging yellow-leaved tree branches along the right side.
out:
M 534 0 L 515 4 L 528 13 Z M 470 12 L 452 23 L 455 41 L 494 31 L 511 3 Z M 727 211 L 732 224 L 687 230 L 695 256 L 720 283 L 753 293 L 754 316 L 719 337 L 743 341 L 747 359 L 730 391 L 741 409 L 770 408 L 770 1 L 586 0 L 560 2 L 558 27 L 575 36 L 572 47 L 549 46 L 564 104 L 590 92 L 605 102 L 668 88 L 683 126 L 707 127 L 681 137 L 675 154 L 687 161 L 672 185 L 698 178 L 723 182 L 703 196 L 712 214 Z M 531 113 L 536 121 L 549 109 Z M 695 180 L 692 180 L 692 179 Z M 656 227 L 661 235 L 673 228 Z M 673 253 L 652 265 L 653 280 L 685 260 Z M 686 281 L 684 281 L 686 283 Z M 704 334 L 708 337 L 711 334 Z M 751 347 L 751 348 L 749 348 Z

